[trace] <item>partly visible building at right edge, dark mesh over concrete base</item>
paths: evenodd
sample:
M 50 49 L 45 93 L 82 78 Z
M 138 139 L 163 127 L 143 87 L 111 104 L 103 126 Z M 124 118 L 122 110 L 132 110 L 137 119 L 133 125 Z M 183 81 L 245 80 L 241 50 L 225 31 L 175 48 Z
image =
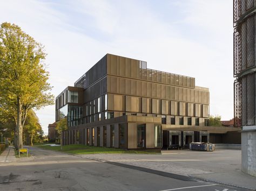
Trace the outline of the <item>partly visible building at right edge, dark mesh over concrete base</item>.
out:
M 234 0 L 234 119 L 242 127 L 242 171 L 256 176 L 255 0 Z M 241 122 L 236 119 L 241 119 Z

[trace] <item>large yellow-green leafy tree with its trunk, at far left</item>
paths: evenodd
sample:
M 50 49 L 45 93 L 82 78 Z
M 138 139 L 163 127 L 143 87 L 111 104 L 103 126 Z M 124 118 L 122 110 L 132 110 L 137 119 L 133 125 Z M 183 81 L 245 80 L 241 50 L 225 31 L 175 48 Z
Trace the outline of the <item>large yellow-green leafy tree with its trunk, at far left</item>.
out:
M 28 112 L 53 104 L 44 47 L 15 24 L 0 27 L 0 105 L 15 111 L 15 147 L 23 147 Z

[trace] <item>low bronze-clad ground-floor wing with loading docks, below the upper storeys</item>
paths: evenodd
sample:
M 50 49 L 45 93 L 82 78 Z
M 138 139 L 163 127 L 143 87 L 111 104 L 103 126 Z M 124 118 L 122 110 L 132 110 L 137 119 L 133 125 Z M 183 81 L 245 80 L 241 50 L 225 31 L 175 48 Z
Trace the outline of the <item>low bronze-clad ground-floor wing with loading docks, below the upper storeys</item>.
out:
M 122 116 L 70 127 L 62 144 L 124 149 L 188 147 L 191 142 L 240 144 L 238 129 L 161 124 L 160 117 Z

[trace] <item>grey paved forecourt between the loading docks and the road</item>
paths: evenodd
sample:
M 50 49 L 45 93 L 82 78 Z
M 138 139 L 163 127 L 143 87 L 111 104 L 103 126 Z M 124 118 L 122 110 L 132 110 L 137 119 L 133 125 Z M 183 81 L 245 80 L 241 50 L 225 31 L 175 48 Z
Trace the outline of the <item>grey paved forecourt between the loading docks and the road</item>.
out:
M 100 161 L 144 167 L 199 180 L 256 190 L 256 177 L 241 172 L 240 150 L 200 152 L 172 150 L 165 154 L 84 154 Z

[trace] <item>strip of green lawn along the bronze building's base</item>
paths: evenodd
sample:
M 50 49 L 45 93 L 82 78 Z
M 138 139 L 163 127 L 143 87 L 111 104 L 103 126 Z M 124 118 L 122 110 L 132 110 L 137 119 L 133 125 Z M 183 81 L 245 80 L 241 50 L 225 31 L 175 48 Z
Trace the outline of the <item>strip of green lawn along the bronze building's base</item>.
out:
M 120 148 L 108 148 L 108 147 L 98 147 L 98 146 L 86 146 L 86 145 L 65 145 L 63 150 L 60 150 L 60 146 L 50 146 L 50 145 L 38 145 L 37 147 L 45 148 L 53 151 L 62 151 L 72 154 L 97 154 L 97 153 L 135 153 L 135 154 L 156 154 L 160 153 L 157 150 L 123 150 Z

